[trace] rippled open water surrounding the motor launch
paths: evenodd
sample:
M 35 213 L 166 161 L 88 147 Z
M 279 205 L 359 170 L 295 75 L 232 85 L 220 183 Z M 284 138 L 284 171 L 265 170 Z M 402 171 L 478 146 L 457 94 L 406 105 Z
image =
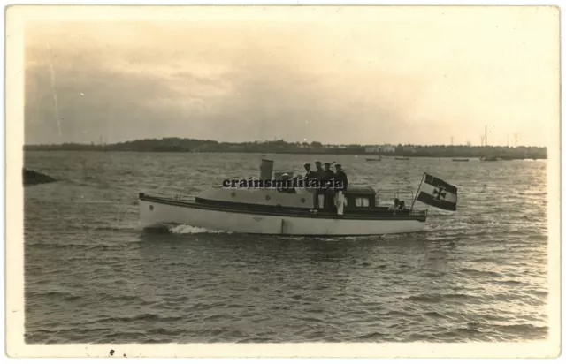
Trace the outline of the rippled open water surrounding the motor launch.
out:
M 261 155 L 31 152 L 27 343 L 489 342 L 547 337 L 547 163 L 325 157 L 351 184 L 459 187 L 423 232 L 252 237 L 138 228 L 137 194 L 258 174 Z M 317 155 L 276 155 L 300 171 Z M 409 197 L 410 199 L 410 197 Z M 409 199 L 407 199 L 409 201 Z M 416 207 L 422 208 L 417 202 Z

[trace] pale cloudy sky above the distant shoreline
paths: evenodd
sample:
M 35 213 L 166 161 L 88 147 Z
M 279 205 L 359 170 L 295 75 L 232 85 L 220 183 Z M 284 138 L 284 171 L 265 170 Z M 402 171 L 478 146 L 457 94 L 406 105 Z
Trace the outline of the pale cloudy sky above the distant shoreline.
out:
M 27 144 L 547 146 L 559 122 L 553 7 L 124 11 L 28 21 Z

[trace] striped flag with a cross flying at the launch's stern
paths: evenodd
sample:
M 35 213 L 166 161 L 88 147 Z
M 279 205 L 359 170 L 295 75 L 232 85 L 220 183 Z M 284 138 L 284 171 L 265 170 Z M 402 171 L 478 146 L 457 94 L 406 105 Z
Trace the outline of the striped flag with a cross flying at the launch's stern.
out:
M 421 186 L 418 187 L 417 201 L 438 209 L 455 211 L 458 201 L 458 188 L 440 178 L 424 173 L 424 179 Z

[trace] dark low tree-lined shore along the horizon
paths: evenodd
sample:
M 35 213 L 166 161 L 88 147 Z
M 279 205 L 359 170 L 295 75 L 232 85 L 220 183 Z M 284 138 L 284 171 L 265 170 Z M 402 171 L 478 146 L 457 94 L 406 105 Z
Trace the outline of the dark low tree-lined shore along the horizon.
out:
M 181 138 L 144 139 L 115 144 L 50 144 L 27 145 L 24 150 L 96 150 L 119 152 L 216 152 L 216 153 L 291 153 L 291 154 L 330 154 L 330 155 L 391 155 L 391 156 L 430 156 L 430 157 L 481 157 L 501 158 L 547 158 L 547 148 L 541 147 L 476 147 L 470 145 L 414 145 L 398 144 L 394 151 L 367 151 L 359 144 L 328 146 L 319 141 L 292 143 L 285 140 L 249 141 L 226 143 L 216 140 L 196 140 Z

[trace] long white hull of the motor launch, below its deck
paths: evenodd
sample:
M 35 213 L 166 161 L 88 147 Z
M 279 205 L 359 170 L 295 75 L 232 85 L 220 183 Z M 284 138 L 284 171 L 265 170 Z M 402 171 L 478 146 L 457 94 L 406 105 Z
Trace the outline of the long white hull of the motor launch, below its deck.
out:
M 417 219 L 348 219 L 343 217 L 286 216 L 259 212 L 198 208 L 140 199 L 143 228 L 187 224 L 212 231 L 298 236 L 362 236 L 422 231 Z

